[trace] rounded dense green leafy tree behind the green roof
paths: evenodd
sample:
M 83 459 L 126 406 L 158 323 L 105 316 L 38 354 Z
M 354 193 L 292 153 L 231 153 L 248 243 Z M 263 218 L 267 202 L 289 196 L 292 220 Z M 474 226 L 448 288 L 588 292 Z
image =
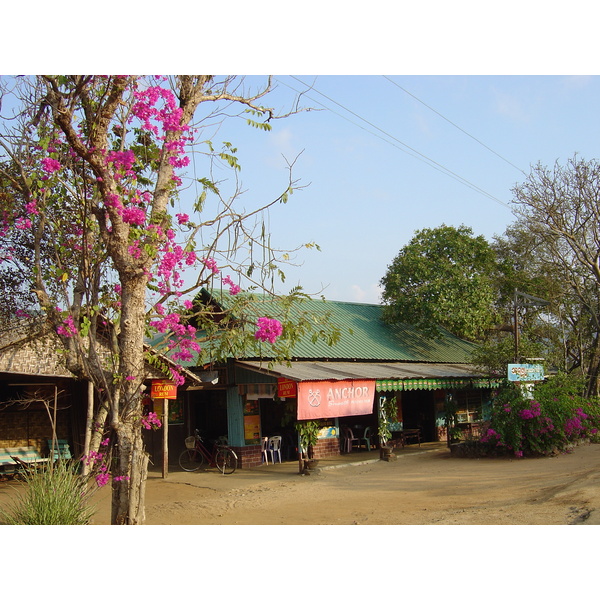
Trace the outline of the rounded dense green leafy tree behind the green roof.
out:
M 440 326 L 469 340 L 491 325 L 494 253 L 471 228 L 422 229 L 402 248 L 381 280 L 384 318 L 439 335 Z

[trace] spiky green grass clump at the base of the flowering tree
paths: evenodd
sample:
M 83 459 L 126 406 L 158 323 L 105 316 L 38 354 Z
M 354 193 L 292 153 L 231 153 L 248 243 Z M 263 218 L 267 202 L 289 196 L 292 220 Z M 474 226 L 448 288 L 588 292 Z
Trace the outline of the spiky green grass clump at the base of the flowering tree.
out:
M 24 473 L 25 490 L 9 511 L 0 509 L 7 525 L 87 525 L 95 509 L 89 505 L 88 479 L 78 465 L 59 461 Z

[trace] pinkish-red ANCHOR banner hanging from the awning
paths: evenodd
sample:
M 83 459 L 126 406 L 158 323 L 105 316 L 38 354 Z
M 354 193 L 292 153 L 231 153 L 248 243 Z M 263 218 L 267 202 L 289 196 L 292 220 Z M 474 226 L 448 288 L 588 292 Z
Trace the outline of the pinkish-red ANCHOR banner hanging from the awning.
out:
M 327 419 L 373 412 L 375 380 L 301 381 L 298 419 Z

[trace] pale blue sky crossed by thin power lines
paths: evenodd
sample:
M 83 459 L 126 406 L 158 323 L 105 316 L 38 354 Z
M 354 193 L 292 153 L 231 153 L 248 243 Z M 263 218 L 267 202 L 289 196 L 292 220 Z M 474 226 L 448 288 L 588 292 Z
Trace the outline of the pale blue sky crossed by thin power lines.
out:
M 238 148 L 248 206 L 275 197 L 296 159 L 306 187 L 270 210 L 273 244 L 316 242 L 321 251 L 299 253 L 286 284 L 332 300 L 378 302 L 415 231 L 464 224 L 491 240 L 514 221 L 511 188 L 531 165 L 598 155 L 599 77 L 302 75 L 276 85 L 272 105 L 312 86 L 303 106 L 319 110 L 269 133 L 234 120 L 215 141 Z

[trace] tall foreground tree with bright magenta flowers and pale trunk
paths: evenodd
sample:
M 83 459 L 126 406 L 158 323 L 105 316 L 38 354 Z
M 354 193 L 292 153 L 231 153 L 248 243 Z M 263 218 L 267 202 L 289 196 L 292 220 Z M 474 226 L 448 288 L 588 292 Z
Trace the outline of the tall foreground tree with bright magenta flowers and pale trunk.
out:
M 293 162 L 281 195 L 247 211 L 236 209 L 237 192 L 222 193 L 210 172 L 185 174 L 190 152 L 237 173 L 233 145 L 217 148 L 203 140 L 203 127 L 224 118 L 224 107 L 239 106 L 251 125 L 269 130 L 286 116 L 260 104 L 270 90 L 270 79 L 249 93 L 235 78 L 208 75 L 2 81 L 5 109 L 14 107 L 0 132 L 0 273 L 14 290 L 3 309 L 16 308 L 22 320 L 42 316 L 68 369 L 91 381 L 100 396 L 95 420 L 102 436 L 96 440 L 116 445 L 115 524 L 144 521 L 148 455 L 141 398 L 145 365 L 153 359 L 146 336 L 166 333 L 176 360 L 198 356 L 202 362 L 206 350 L 197 328 L 204 324 L 211 357 L 223 355 L 228 339 L 219 342 L 212 308 L 193 306 L 190 294 L 219 285 L 236 295 L 240 284 L 273 292 L 273 276 L 283 277 L 278 265 L 287 255 L 271 248 L 261 215 L 297 189 Z M 200 186 L 190 211 L 185 181 Z M 207 215 L 208 205 L 213 212 Z M 185 278 L 186 269 L 193 279 Z M 266 276 L 257 278 L 261 273 Z M 291 299 L 301 296 L 295 290 Z M 235 313 L 235 304 L 230 310 Z M 227 333 L 226 317 L 218 315 Z M 307 317 L 302 325 L 311 323 Z M 238 337 L 236 348 L 259 338 L 274 342 L 296 324 L 280 324 L 273 333 L 272 320 L 261 322 Z M 319 332 L 327 337 L 331 330 Z M 167 375 L 182 382 L 176 368 Z

